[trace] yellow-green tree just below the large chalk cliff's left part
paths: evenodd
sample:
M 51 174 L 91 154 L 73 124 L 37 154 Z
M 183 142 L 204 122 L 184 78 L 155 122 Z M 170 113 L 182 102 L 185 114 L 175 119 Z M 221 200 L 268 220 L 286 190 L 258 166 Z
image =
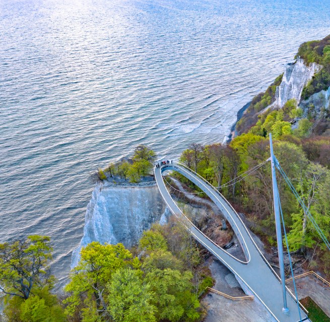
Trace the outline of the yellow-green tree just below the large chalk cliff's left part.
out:
M 65 312 L 73 316 L 81 314 L 83 321 L 94 318 L 107 319 L 106 283 L 119 268 L 139 266 L 139 261 L 122 244 L 101 245 L 93 241 L 81 250 L 78 266 L 71 273 L 71 281 L 65 286 L 69 296 Z

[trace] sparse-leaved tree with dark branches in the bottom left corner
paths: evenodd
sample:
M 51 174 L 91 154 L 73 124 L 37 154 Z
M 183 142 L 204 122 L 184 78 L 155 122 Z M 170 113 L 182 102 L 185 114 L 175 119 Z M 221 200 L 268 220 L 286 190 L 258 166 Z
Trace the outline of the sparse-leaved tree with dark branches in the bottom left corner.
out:
M 16 322 L 62 322 L 65 315 L 56 295 L 50 293 L 54 277 L 50 238 L 31 235 L 0 244 L 0 289 L 5 296 L 4 313 Z

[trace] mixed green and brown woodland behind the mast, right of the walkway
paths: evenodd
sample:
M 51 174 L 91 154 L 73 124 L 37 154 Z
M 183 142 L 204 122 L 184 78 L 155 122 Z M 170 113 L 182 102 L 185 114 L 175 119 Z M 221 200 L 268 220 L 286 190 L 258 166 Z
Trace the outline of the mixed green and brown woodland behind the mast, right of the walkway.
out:
M 328 122 L 328 113 L 322 118 Z M 296 125 L 294 128 L 293 123 Z M 251 172 L 244 180 L 234 179 L 269 158 L 271 132 L 275 154 L 282 168 L 329 238 L 330 137 L 315 134 L 319 125 L 313 113 L 303 117 L 297 102 L 289 100 L 282 109 L 269 109 L 260 114 L 255 125 L 247 133 L 235 137 L 230 144 L 204 146 L 193 143 L 182 152 L 180 161 L 218 187 L 237 210 L 246 213 L 252 229 L 270 249 L 276 246 L 270 164 Z M 184 177 L 177 177 L 193 191 L 200 191 Z M 278 183 L 290 251 L 306 259 L 305 268 L 317 267 L 330 276 L 330 255 L 309 222 L 307 213 L 301 209 L 284 179 L 279 177 Z

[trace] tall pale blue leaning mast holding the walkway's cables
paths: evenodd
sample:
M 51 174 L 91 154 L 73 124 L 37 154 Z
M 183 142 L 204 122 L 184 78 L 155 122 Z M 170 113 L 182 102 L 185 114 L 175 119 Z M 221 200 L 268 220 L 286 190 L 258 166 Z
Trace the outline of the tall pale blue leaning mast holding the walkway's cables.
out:
M 281 217 L 280 217 L 280 195 L 279 189 L 276 181 L 276 171 L 275 171 L 275 160 L 276 157 L 273 151 L 273 141 L 272 133 L 269 134 L 270 149 L 271 149 L 271 164 L 272 164 L 272 179 L 273 179 L 273 196 L 274 196 L 274 213 L 275 213 L 275 225 L 276 225 L 276 237 L 277 237 L 277 250 L 279 253 L 279 266 L 280 275 L 283 288 L 283 308 L 282 311 L 285 314 L 289 313 L 289 308 L 287 306 L 287 293 L 285 289 L 285 272 L 284 272 L 284 261 L 283 261 L 283 241 L 282 241 L 282 229 L 281 229 Z

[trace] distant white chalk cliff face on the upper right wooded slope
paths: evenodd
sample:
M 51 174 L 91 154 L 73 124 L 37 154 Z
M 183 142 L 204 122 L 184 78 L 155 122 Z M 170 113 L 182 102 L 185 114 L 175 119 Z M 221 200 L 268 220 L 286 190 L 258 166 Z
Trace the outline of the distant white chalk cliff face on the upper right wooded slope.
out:
M 282 83 L 276 89 L 274 105 L 283 107 L 291 99 L 296 99 L 299 103 L 302 90 L 320 68 L 321 66 L 316 63 L 306 66 L 303 59 L 297 59 L 295 63 L 288 64 L 283 74 Z

